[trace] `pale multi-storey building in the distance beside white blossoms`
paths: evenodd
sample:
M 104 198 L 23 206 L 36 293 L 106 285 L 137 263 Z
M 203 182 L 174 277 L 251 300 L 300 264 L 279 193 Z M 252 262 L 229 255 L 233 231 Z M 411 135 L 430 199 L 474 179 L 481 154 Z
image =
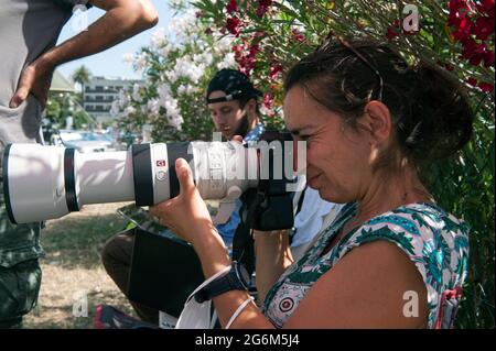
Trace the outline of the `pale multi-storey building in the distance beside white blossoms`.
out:
M 84 109 L 97 123 L 106 123 L 112 120 L 110 108 L 112 101 L 118 99 L 119 90 L 128 89 L 134 84 L 142 85 L 143 80 L 110 78 L 95 76 L 85 84 L 83 92 Z

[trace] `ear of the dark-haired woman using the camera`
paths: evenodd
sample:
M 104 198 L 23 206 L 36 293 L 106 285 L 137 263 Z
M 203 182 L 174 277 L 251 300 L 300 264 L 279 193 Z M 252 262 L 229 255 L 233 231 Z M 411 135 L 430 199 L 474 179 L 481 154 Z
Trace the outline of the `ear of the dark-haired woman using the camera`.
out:
M 370 132 L 371 141 L 377 144 L 387 141 L 391 135 L 391 114 L 388 107 L 380 101 L 368 102 L 364 116 L 358 121 Z

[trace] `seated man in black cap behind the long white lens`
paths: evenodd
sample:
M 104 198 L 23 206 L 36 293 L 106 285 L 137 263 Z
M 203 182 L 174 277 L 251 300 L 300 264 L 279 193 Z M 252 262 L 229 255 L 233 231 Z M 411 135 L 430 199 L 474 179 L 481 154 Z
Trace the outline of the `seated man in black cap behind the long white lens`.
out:
M 261 96 L 261 91 L 257 90 L 248 77 L 238 70 L 222 69 L 214 76 L 207 87 L 206 103 L 215 129 L 222 133 L 224 140 L 229 141 L 235 135 L 242 136 L 246 142 L 259 139 L 263 132 L 258 111 L 258 98 Z M 226 246 L 233 244 L 235 231 L 241 230 L 238 228 L 242 227 L 239 226 L 240 208 L 241 201 L 238 200 L 229 220 L 216 226 Z M 242 228 L 242 230 L 247 229 Z M 107 273 L 125 295 L 128 292 L 133 242 L 132 230 L 118 233 L 107 241 L 101 253 L 101 261 Z M 245 243 L 235 243 L 235 251 L 239 251 L 240 244 Z M 130 303 L 142 320 L 159 323 L 159 310 L 136 301 Z

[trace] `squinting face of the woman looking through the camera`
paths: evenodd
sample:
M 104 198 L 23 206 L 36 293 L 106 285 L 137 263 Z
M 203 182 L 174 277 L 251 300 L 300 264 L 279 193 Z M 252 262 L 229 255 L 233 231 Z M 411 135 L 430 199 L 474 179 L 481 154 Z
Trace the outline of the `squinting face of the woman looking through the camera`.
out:
M 284 120 L 294 140 L 306 142 L 309 186 L 332 202 L 362 198 L 371 176 L 368 135 L 347 127 L 300 86 L 285 96 Z

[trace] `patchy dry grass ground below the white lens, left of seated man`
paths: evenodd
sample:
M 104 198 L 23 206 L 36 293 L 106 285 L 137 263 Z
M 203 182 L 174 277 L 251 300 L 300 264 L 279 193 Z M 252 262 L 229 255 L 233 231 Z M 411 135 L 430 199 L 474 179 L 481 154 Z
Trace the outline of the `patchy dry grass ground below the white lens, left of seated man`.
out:
M 126 226 L 116 213 L 121 206 L 123 204 L 90 205 L 82 212 L 47 222 L 42 231 L 46 256 L 41 259 L 40 299 L 34 310 L 25 316 L 24 328 L 93 328 L 99 304 L 112 305 L 136 316 L 105 272 L 100 259 L 105 242 Z M 86 301 L 87 316 L 84 316 L 82 306 Z

